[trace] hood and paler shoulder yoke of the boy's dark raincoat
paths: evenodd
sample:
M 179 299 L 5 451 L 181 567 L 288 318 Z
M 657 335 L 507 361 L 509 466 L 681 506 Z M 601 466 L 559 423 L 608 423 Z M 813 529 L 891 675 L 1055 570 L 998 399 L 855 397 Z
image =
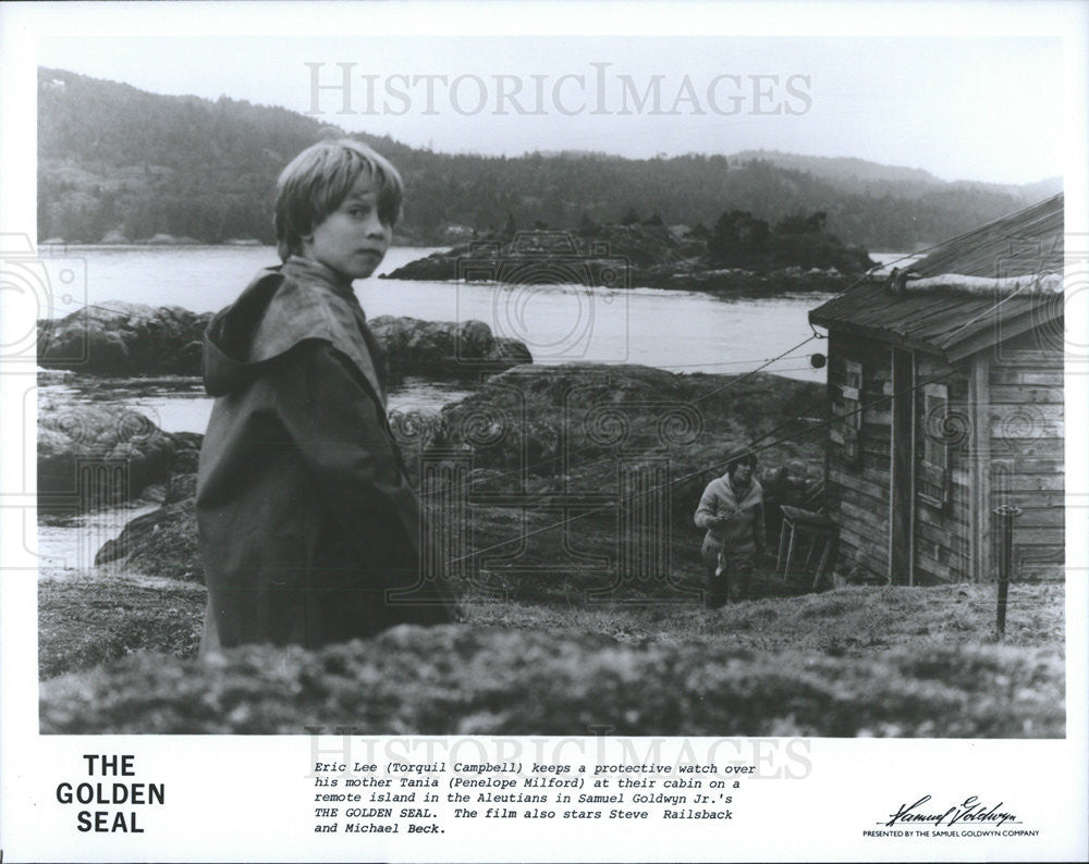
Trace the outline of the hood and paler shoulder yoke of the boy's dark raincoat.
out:
M 204 340 L 204 383 L 209 396 L 247 386 L 267 363 L 306 340 L 330 343 L 358 368 L 384 403 L 384 388 L 370 353 L 381 347 L 366 328 L 366 316 L 351 284 L 329 268 L 291 257 L 260 271 L 227 309 L 208 323 Z

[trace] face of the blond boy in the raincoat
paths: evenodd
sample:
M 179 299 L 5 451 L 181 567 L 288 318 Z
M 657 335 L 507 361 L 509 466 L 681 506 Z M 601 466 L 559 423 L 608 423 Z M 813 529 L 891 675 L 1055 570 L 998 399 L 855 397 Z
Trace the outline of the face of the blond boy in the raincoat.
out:
M 340 207 L 303 238 L 303 257 L 347 281 L 366 279 L 381 263 L 392 239 L 393 227 L 378 218 L 378 189 L 369 177 L 359 177 Z

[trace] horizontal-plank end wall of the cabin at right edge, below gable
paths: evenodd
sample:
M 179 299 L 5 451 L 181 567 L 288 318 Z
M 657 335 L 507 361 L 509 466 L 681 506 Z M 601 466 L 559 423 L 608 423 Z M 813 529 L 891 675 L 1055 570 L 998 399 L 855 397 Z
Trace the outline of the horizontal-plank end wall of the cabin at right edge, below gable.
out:
M 1062 579 L 1065 561 L 1063 321 L 1000 344 L 979 362 L 989 394 L 989 510 L 1021 508 L 1014 520 L 1015 579 Z M 981 578 L 998 576 L 999 532 Z

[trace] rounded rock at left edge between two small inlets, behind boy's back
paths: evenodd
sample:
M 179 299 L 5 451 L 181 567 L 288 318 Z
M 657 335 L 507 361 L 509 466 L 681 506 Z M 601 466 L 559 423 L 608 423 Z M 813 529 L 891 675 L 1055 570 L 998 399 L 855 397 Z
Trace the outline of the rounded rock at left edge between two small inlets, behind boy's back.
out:
M 163 432 L 125 408 L 45 404 L 38 408 L 38 492 L 75 494 L 85 507 L 112 506 L 195 470 L 199 440 Z

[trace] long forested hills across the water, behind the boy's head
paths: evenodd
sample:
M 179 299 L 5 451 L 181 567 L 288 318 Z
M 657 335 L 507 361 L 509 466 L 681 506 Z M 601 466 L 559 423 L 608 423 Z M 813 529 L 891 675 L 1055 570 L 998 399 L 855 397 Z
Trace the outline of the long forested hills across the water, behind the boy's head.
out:
M 39 239 L 170 234 L 271 243 L 277 174 L 331 128 L 282 108 L 159 96 L 61 70 L 40 70 L 38 90 Z M 518 227 L 565 229 L 657 215 L 666 224 L 710 226 L 727 210 L 766 220 L 820 210 L 827 231 L 848 243 L 907 250 L 1042 197 L 1030 187 L 944 183 L 913 169 L 775 152 L 506 158 L 357 137 L 404 175 L 399 235 L 417 243 L 461 239 L 512 219 Z

